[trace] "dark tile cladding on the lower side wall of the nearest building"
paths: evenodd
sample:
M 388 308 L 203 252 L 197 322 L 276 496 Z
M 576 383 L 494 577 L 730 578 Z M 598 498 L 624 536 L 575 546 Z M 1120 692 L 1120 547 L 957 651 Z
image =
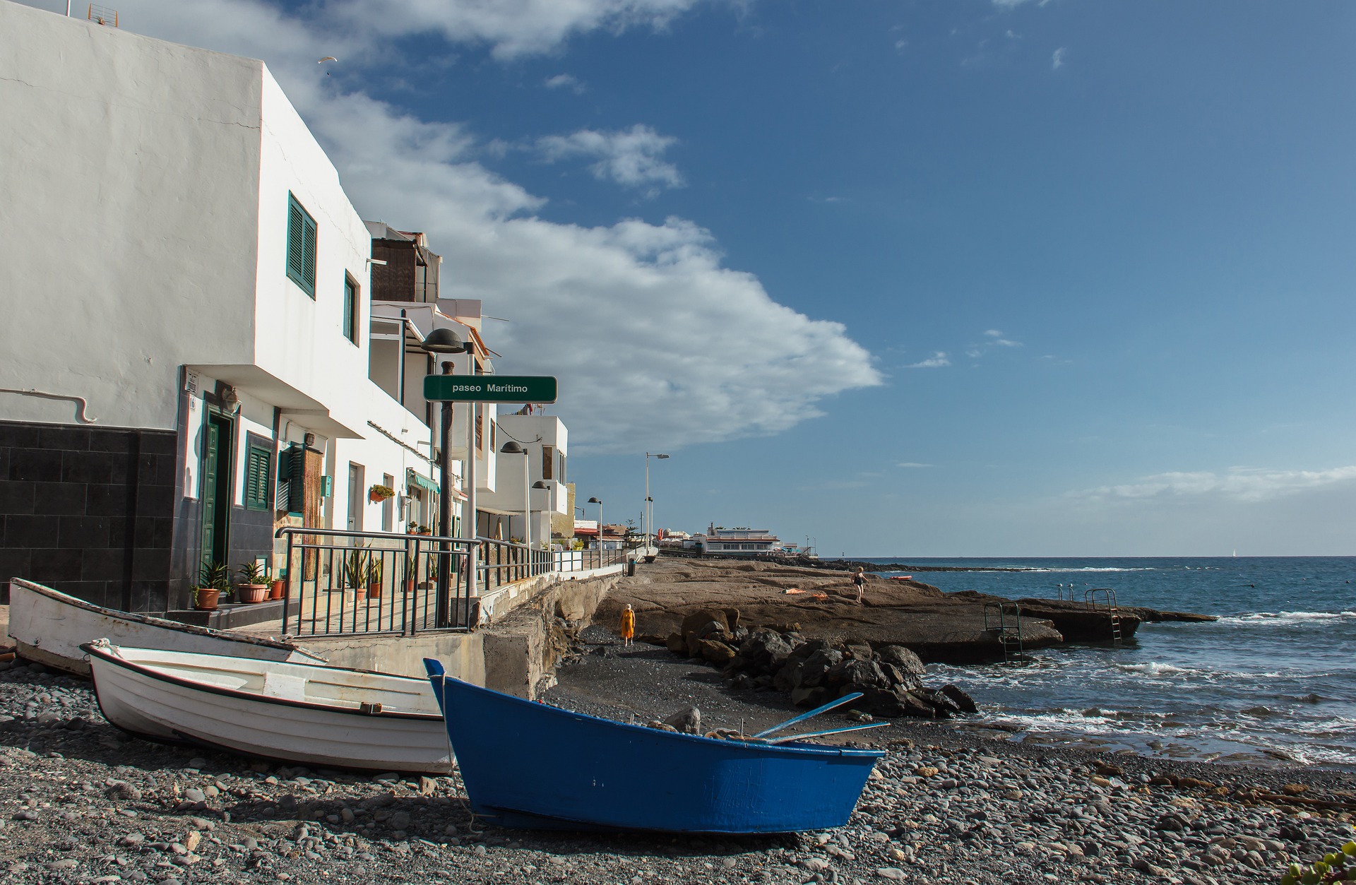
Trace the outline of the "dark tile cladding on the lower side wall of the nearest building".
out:
M 0 580 L 164 611 L 176 434 L 0 421 Z

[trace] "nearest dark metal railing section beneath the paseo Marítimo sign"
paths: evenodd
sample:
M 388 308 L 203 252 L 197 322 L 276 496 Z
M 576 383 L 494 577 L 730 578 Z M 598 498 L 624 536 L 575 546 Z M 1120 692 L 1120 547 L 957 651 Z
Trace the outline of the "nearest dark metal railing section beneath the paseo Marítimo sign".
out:
M 298 527 L 274 537 L 287 539 L 283 634 L 414 636 L 469 630 L 480 619 L 466 584 L 477 541 Z

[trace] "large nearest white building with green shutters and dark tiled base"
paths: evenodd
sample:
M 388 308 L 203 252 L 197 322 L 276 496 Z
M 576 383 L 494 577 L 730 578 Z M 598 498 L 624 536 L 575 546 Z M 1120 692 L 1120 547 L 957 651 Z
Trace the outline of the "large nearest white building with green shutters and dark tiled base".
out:
M 372 234 L 263 62 L 5 1 L 0 34 L 0 572 L 155 611 L 267 557 L 289 511 L 428 519 L 428 405 L 374 370 Z M 430 361 L 400 362 L 408 394 Z

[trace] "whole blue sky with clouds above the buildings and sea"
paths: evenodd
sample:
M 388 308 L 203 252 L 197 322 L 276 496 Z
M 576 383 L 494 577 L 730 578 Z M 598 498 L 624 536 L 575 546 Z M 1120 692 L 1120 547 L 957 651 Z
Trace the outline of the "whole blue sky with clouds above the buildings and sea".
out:
M 1356 553 L 1349 3 L 119 12 L 268 62 L 609 520 L 663 450 L 659 524 L 823 554 Z

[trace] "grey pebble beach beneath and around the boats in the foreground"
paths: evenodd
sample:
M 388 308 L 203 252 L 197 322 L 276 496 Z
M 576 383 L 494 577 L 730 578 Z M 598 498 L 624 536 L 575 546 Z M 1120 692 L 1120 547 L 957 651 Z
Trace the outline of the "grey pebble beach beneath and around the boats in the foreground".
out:
M 712 725 L 793 710 L 709 665 L 589 627 L 545 701 Z M 827 716 L 834 722 L 842 717 Z M 0 672 L 7 882 L 1264 882 L 1352 835 L 1356 778 L 1036 748 L 975 722 L 902 720 L 846 827 L 767 838 L 509 831 L 457 777 L 270 766 L 132 739 L 88 682 Z M 850 736 L 849 736 L 850 737 Z M 845 741 L 848 743 L 848 741 Z M 549 748 L 544 749 L 549 752 Z M 563 762 L 564 764 L 564 762 Z M 1295 793 L 1294 802 L 1265 796 Z

